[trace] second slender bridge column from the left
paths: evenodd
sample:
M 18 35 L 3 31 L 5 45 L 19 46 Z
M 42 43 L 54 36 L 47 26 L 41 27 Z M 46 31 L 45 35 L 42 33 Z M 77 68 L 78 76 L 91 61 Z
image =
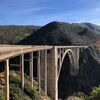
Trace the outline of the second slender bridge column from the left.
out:
M 20 77 L 22 81 L 22 89 L 24 89 L 24 54 L 20 56 Z

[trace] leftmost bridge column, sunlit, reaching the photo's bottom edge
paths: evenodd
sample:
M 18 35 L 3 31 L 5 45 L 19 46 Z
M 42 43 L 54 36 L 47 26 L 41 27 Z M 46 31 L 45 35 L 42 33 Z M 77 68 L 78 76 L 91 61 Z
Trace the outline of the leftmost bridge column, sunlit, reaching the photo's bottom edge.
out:
M 9 59 L 5 62 L 5 100 L 9 100 Z

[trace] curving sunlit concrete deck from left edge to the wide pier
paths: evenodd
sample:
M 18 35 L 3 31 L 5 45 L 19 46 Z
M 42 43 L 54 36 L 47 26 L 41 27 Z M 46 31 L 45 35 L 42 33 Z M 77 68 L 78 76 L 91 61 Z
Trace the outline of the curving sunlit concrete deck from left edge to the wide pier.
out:
M 32 51 L 48 50 L 53 46 L 0 45 L 0 61 Z

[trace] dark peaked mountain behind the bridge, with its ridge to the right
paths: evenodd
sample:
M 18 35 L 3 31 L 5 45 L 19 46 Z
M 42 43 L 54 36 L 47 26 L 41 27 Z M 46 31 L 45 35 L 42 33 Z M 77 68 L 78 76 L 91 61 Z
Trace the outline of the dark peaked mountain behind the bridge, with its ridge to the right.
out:
M 87 45 L 100 40 L 100 34 L 77 24 L 51 22 L 19 44 L 33 45 Z

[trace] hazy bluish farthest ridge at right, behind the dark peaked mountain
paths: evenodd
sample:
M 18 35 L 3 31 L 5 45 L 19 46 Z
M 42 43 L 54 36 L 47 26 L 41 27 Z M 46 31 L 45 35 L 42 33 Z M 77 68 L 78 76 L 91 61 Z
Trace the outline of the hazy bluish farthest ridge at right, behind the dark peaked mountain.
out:
M 85 23 L 85 22 L 84 23 L 73 23 L 73 24 L 82 26 L 84 28 L 88 28 L 89 30 L 100 34 L 100 26 L 98 26 L 98 25 L 95 25 L 92 23 Z

